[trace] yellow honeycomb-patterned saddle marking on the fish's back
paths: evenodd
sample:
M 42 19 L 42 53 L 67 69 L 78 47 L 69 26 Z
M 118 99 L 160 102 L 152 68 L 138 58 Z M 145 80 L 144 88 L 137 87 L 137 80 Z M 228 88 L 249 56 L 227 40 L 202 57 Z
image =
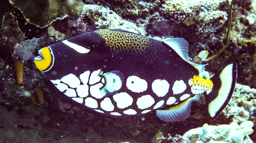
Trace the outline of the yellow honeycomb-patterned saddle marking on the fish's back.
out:
M 108 45 L 110 49 L 115 52 L 131 51 L 141 53 L 151 45 L 148 37 L 134 33 L 110 29 L 102 29 L 95 32 L 101 35 L 101 37 L 106 40 L 106 45 Z

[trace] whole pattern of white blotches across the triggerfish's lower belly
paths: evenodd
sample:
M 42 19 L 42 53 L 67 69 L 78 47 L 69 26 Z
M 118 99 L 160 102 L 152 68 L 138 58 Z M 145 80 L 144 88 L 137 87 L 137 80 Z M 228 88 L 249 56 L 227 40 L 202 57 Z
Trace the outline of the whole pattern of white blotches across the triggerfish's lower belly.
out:
M 68 74 L 66 76 L 63 76 L 61 80 L 51 80 L 51 82 L 58 88 L 58 90 L 62 92 L 65 91 L 64 94 L 67 95 L 68 97 L 71 97 L 72 100 L 81 104 L 83 103 L 83 100 L 84 100 L 85 106 L 89 108 L 94 108 L 94 110 L 99 113 L 104 113 L 104 111 L 114 111 L 115 106 L 112 104 L 112 101 L 110 98 L 105 98 L 103 101 L 99 103 L 101 109 L 103 109 L 104 111 L 95 109 L 95 108 L 99 108 L 99 106 L 98 106 L 97 100 L 95 100 L 94 98 L 100 99 L 103 97 L 100 91 L 100 88 L 103 86 L 103 84 L 97 83 L 97 82 L 100 82 L 101 80 L 101 77 L 99 77 L 100 72 L 101 70 L 98 69 L 92 72 L 90 76 L 90 71 L 85 71 L 82 74 L 80 74 L 79 78 L 77 78 L 74 74 Z M 61 82 L 64 82 L 64 83 L 61 83 Z M 102 82 L 104 83 L 105 81 L 102 80 Z M 89 90 L 88 90 L 89 86 L 87 85 L 88 83 L 92 85 L 90 86 L 90 94 L 94 98 L 91 98 L 91 97 L 85 98 L 89 95 Z M 66 84 L 69 87 L 74 89 L 68 88 Z M 148 83 L 146 82 L 146 80 L 141 79 L 138 76 L 129 76 L 126 80 L 126 86 L 132 92 L 141 93 L 147 90 Z M 170 84 L 166 80 L 156 79 L 152 83 L 152 90 L 158 97 L 164 97 L 168 93 L 169 88 L 170 88 Z M 173 89 L 173 94 L 182 93 L 186 90 L 186 84 L 184 83 L 183 80 L 176 80 L 174 82 L 172 89 Z M 76 93 L 79 96 L 79 98 L 77 97 Z M 189 97 L 190 97 L 189 94 L 184 94 L 180 97 L 180 100 L 181 101 L 186 100 Z M 117 103 L 116 104 L 117 107 L 120 109 L 127 108 L 133 103 L 133 98 L 126 92 L 121 92 L 113 95 L 113 99 Z M 151 107 L 153 104 L 155 104 L 153 109 L 157 109 L 163 106 L 164 102 L 165 102 L 164 100 L 161 100 L 155 104 L 155 100 L 151 95 L 143 95 L 137 99 L 136 104 L 139 109 L 146 109 Z M 166 101 L 166 104 L 171 105 L 171 104 L 174 104 L 175 102 L 176 102 L 176 98 L 170 97 Z M 141 112 L 141 114 L 146 114 L 150 111 L 152 110 L 150 109 L 144 110 Z M 135 115 L 137 114 L 137 111 L 135 111 L 132 108 L 129 108 L 123 111 L 123 113 L 126 115 Z M 111 112 L 110 115 L 121 116 L 121 114 L 118 112 Z

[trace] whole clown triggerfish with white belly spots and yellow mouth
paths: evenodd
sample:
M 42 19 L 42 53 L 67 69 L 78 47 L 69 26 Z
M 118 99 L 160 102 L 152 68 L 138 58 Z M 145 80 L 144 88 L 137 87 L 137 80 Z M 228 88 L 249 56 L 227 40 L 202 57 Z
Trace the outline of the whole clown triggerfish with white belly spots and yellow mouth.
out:
M 183 121 L 204 93 L 208 113 L 216 118 L 234 91 L 236 63 L 202 78 L 205 65 L 189 61 L 188 45 L 182 38 L 158 41 L 103 29 L 42 48 L 34 63 L 64 95 L 105 115 L 156 110 L 163 121 Z

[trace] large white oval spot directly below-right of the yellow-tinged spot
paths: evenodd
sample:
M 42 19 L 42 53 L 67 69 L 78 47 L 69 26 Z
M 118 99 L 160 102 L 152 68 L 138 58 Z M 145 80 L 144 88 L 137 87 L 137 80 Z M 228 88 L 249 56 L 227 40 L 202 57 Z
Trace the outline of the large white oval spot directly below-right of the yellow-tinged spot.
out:
M 143 95 L 138 98 L 136 104 L 139 109 L 146 109 L 155 103 L 154 98 L 151 95 Z

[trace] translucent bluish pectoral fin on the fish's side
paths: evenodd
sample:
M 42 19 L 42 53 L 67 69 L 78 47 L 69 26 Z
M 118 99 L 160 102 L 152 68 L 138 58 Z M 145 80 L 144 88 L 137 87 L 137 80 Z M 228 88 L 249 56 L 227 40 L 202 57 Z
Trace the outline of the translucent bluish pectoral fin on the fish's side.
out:
M 100 75 L 105 79 L 103 87 L 100 88 L 101 95 L 114 95 L 124 85 L 124 74 L 120 71 L 107 72 Z

